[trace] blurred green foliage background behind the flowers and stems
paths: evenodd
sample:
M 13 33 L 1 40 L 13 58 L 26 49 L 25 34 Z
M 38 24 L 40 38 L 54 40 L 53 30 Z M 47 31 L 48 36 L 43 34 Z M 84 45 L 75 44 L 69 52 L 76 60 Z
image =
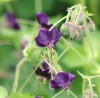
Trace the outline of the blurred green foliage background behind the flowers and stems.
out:
M 22 41 L 29 41 L 32 39 L 34 32 L 38 32 L 38 24 L 36 22 L 35 15 L 37 12 L 44 12 L 49 16 L 49 23 L 54 24 L 57 20 L 67 14 L 67 8 L 75 4 L 82 3 L 84 1 L 85 6 L 90 13 L 93 13 L 93 19 L 96 25 L 96 31 L 91 33 L 91 39 L 94 46 L 94 53 L 96 55 L 96 62 L 100 65 L 100 0 L 0 0 L 0 85 L 7 88 L 9 94 L 12 91 L 12 85 L 14 81 L 15 67 L 17 63 L 23 58 Z M 3 25 L 6 23 L 5 13 L 12 12 L 20 24 L 21 29 L 16 31 Z M 60 29 L 61 23 L 57 26 Z M 55 49 L 58 55 L 66 48 L 65 44 L 60 41 Z M 74 47 L 86 58 L 91 59 L 90 48 L 87 43 L 87 39 L 83 39 L 81 42 L 73 42 Z M 89 74 L 84 66 L 87 66 L 81 58 L 75 54 L 72 50 L 69 50 L 63 58 L 59 61 L 59 64 L 64 71 L 71 71 L 76 75 L 75 80 L 71 86 L 73 92 L 81 98 L 82 79 L 77 74 L 77 70 L 84 74 Z M 32 72 L 33 62 L 26 62 L 21 69 L 19 86 L 27 79 Z M 96 74 L 95 71 L 92 74 Z M 92 75 L 90 74 L 90 75 Z M 49 89 L 48 83 L 41 84 L 38 80 L 34 79 L 34 75 L 30 82 L 25 86 L 23 93 L 31 93 L 33 95 L 41 95 L 45 98 L 50 98 L 58 91 L 52 91 Z M 37 82 L 38 81 L 38 82 Z M 96 84 L 94 87 L 95 92 L 100 98 L 100 79 L 93 80 Z M 68 96 L 66 92 L 59 95 L 57 98 L 65 98 Z M 67 98 L 67 97 L 66 97 Z M 69 96 L 68 98 L 73 98 Z

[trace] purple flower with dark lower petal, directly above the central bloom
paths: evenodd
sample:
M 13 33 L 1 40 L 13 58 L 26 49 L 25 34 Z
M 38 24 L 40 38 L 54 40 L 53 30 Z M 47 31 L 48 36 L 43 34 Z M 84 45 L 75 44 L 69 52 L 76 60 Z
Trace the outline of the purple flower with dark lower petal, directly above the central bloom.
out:
M 45 13 L 39 12 L 36 14 L 36 19 L 38 21 L 38 24 L 40 25 L 40 28 L 50 29 L 52 24 L 48 24 L 48 16 Z

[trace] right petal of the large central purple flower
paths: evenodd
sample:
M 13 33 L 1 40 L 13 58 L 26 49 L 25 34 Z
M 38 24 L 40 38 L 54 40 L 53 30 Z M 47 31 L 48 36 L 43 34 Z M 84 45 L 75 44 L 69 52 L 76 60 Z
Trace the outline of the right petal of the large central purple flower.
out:
M 61 37 L 61 33 L 56 28 L 51 30 L 51 40 L 53 40 L 54 45 L 57 43 L 60 37 Z

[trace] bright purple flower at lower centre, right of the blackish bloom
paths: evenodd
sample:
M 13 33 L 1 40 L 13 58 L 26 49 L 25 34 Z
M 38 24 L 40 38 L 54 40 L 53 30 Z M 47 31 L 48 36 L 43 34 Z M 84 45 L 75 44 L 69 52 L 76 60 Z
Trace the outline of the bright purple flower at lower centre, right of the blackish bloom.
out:
M 55 75 L 54 79 L 50 81 L 50 86 L 54 89 L 64 88 L 67 90 L 74 77 L 75 76 L 69 72 L 59 72 L 57 75 Z

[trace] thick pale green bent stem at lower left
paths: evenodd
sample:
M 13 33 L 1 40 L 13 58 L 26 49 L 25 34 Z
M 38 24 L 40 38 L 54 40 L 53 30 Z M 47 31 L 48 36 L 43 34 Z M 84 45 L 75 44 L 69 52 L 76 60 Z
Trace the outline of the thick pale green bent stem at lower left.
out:
M 13 92 L 16 92 L 17 86 L 18 86 L 18 80 L 19 80 L 19 73 L 20 70 L 23 66 L 23 64 L 25 63 L 26 59 L 23 58 L 17 65 L 16 67 L 16 73 L 15 73 L 15 80 L 14 80 L 14 84 L 13 84 Z

